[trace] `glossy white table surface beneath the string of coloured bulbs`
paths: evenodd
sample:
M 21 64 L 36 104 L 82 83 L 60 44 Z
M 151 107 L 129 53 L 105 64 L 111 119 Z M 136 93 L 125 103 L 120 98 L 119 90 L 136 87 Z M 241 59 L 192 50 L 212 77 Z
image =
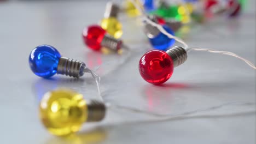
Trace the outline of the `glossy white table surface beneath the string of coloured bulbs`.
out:
M 38 118 L 40 97 L 58 87 L 98 99 L 95 81 L 56 75 L 41 79 L 28 67 L 30 51 L 55 46 L 63 56 L 84 61 L 102 77 L 104 100 L 159 113 L 182 113 L 230 102 L 255 102 L 255 70 L 230 56 L 191 51 L 162 86 L 145 82 L 138 61 L 150 49 L 134 20 L 121 17 L 131 56 L 88 50 L 82 29 L 103 17 L 104 1 L 0 2 L 0 143 L 255 143 L 255 105 L 229 105 L 162 122 L 125 110 L 109 110 L 100 123 L 85 123 L 68 139 L 52 136 Z M 237 53 L 255 64 L 255 1 L 238 19 L 216 19 L 184 35 L 190 46 Z M 176 43 L 177 44 L 177 43 Z M 129 56 L 129 57 L 128 57 Z M 141 122 L 142 121 L 142 122 Z

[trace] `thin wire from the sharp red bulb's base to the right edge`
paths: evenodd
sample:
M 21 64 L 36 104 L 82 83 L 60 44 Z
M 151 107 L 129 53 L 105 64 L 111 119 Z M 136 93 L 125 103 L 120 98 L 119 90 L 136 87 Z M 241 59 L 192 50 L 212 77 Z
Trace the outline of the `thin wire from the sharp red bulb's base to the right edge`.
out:
M 242 61 L 246 62 L 253 69 L 256 69 L 255 65 L 251 61 L 248 61 L 247 59 L 245 59 L 241 56 L 238 56 L 235 53 L 232 53 L 232 52 L 229 52 L 229 51 L 218 51 L 218 50 L 214 50 L 214 49 L 202 49 L 202 48 L 199 48 L 199 47 L 191 47 L 190 49 L 188 49 L 188 51 L 189 50 L 207 51 L 207 52 L 211 52 L 211 53 L 219 53 L 219 54 L 222 54 L 222 55 L 228 55 L 228 56 L 236 57 L 236 58 L 241 59 Z

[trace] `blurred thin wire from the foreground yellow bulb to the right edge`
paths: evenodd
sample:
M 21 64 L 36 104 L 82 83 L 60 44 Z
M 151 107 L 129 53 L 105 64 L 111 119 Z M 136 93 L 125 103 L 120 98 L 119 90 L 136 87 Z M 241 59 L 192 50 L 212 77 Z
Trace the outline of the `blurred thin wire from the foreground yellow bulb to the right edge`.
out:
M 150 111 L 144 111 L 141 109 L 137 109 L 135 107 L 127 107 L 127 106 L 121 106 L 121 105 L 114 105 L 114 104 L 106 104 L 108 108 L 114 108 L 114 109 L 123 109 L 123 110 L 128 110 L 133 113 L 139 113 L 139 114 L 146 114 L 149 116 L 154 116 L 154 117 L 164 117 L 164 118 L 171 118 L 171 117 L 178 117 L 178 116 L 187 116 L 187 115 L 192 115 L 198 112 L 204 112 L 204 111 L 212 111 L 212 110 L 217 110 L 225 106 L 232 106 L 232 105 L 241 105 L 241 106 L 249 106 L 249 105 L 255 105 L 255 103 L 252 102 L 240 102 L 240 101 L 233 101 L 230 103 L 224 103 L 216 106 L 211 106 L 207 107 L 204 109 L 197 109 L 193 111 L 188 111 L 188 112 L 183 112 L 183 113 L 177 113 L 177 114 L 160 114 L 160 113 L 155 113 L 155 112 L 150 112 Z

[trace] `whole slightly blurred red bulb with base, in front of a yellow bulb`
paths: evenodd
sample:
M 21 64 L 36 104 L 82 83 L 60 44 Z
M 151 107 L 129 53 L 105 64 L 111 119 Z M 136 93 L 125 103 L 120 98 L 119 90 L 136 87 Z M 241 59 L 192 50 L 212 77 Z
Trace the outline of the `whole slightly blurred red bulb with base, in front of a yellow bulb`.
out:
M 121 48 L 126 49 L 123 41 L 115 39 L 106 31 L 97 25 L 91 25 L 83 30 L 84 43 L 92 50 L 100 50 L 101 47 L 107 47 L 109 50 L 118 52 Z

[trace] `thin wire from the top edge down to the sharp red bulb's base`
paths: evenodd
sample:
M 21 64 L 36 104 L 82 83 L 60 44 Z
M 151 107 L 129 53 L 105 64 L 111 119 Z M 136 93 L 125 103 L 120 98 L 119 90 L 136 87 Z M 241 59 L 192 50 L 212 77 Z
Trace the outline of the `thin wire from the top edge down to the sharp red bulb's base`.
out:
M 144 21 L 146 21 L 146 22 L 149 23 L 150 25 L 152 25 L 152 26 L 158 28 L 159 31 L 160 31 L 161 33 L 165 34 L 168 38 L 175 39 L 175 40 L 178 41 L 179 43 L 183 44 L 185 49 L 188 49 L 188 45 L 187 45 L 182 39 L 180 39 L 180 38 L 178 38 L 178 37 L 175 37 L 174 35 L 168 33 L 167 31 L 165 31 L 165 29 L 164 29 L 161 25 L 159 25 L 158 23 L 155 23 L 155 22 L 153 22 L 152 20 L 150 20 L 150 19 L 146 16 L 145 11 L 142 10 L 142 9 L 139 7 L 139 5 L 135 2 L 135 0 L 130 0 L 130 1 L 133 3 L 133 5 L 135 5 L 136 9 L 138 9 L 139 12 L 143 15 L 143 16 L 142 16 L 142 19 L 143 19 Z

